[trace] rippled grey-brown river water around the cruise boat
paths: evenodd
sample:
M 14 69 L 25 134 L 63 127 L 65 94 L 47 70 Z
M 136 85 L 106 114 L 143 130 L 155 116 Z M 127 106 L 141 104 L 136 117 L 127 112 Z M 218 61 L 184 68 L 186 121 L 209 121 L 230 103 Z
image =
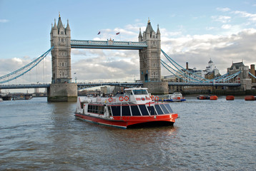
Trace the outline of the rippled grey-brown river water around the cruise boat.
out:
M 0 103 L 0 170 L 256 170 L 256 101 L 172 103 L 173 127 L 74 118 L 75 103 Z

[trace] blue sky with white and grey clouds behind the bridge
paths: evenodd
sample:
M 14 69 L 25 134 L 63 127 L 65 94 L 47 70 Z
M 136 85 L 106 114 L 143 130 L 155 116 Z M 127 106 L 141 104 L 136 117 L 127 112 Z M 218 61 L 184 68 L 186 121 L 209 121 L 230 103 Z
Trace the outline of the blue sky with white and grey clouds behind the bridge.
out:
M 150 19 L 154 31 L 159 24 L 162 50 L 181 66 L 188 62 L 189 68 L 204 70 L 211 58 L 225 74 L 232 63 L 256 63 L 256 1 L 252 0 L 0 0 L 0 76 L 50 48 L 51 24 L 59 13 L 65 26 L 69 20 L 72 39 L 138 41 L 139 28 L 145 31 Z M 162 76 L 168 75 L 162 68 Z M 77 82 L 139 80 L 139 51 L 72 49 L 72 77 Z M 50 81 L 49 54 L 11 83 Z

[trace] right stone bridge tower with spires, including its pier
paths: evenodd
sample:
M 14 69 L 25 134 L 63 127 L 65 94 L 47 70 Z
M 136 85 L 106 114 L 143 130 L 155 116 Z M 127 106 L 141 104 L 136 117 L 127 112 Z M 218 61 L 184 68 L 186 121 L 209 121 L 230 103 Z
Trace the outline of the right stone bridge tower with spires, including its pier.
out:
M 139 29 L 139 42 L 147 42 L 147 48 L 139 50 L 139 72 L 143 86 L 149 88 L 149 93 L 168 93 L 168 83 L 161 78 L 161 34 L 159 26 L 157 33 L 153 30 L 150 20 L 146 31 Z

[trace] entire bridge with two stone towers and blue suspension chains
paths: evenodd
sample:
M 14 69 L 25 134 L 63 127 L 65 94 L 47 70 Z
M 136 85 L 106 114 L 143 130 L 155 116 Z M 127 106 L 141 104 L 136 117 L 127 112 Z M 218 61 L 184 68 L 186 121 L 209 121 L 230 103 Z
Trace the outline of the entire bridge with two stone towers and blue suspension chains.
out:
M 193 76 L 186 69 L 179 66 L 172 58 L 167 56 L 161 49 L 161 34 L 159 26 L 157 32 L 151 26 L 150 21 L 147 22 L 147 28 L 142 33 L 139 29 L 139 41 L 114 41 L 112 39 L 107 41 L 92 41 L 92 40 L 72 40 L 71 29 L 69 21 L 64 28 L 61 17 L 54 25 L 51 26 L 51 83 L 47 84 L 31 84 L 31 85 L 0 85 L 0 89 L 11 88 L 47 88 L 48 101 L 76 101 L 77 88 L 88 88 L 93 86 L 125 86 L 125 87 L 147 87 L 149 93 L 168 93 L 168 86 L 228 86 L 241 87 L 243 90 L 250 88 L 246 84 L 250 83 L 248 80 L 248 68 L 245 66 L 232 66 L 230 73 L 215 78 L 215 80 L 207 80 Z M 72 48 L 96 48 L 96 49 L 125 49 L 139 51 L 139 83 L 72 83 L 72 65 L 71 65 L 71 49 Z M 40 56 L 28 65 L 14 71 L 6 76 L 0 77 L 0 83 L 6 83 L 14 80 L 24 73 L 34 68 L 45 56 Z M 161 60 L 161 53 L 172 63 L 174 67 L 168 66 Z M 161 65 L 164 66 L 173 75 L 177 76 L 179 80 L 184 80 L 179 83 L 162 81 Z M 181 68 L 178 68 L 181 67 Z M 241 68 L 240 68 L 241 67 Z M 24 71 L 23 71 L 24 70 Z M 23 71 L 23 72 L 22 72 Z M 16 76 L 14 75 L 16 74 Z M 255 74 L 254 74 L 255 75 Z M 5 79 L 5 80 L 4 80 Z M 226 83 L 225 83 L 226 81 Z M 231 82 L 227 82 L 231 81 Z M 235 83 L 234 83 L 235 82 Z

